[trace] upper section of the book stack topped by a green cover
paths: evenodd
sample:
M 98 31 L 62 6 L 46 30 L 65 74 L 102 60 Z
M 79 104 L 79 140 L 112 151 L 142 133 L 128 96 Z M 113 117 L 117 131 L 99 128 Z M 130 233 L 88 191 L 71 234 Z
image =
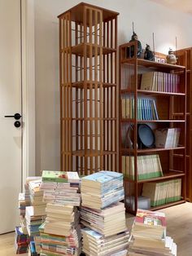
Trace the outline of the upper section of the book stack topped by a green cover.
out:
M 73 171 L 43 170 L 41 190 L 43 201 L 63 205 L 81 204 L 80 178 Z

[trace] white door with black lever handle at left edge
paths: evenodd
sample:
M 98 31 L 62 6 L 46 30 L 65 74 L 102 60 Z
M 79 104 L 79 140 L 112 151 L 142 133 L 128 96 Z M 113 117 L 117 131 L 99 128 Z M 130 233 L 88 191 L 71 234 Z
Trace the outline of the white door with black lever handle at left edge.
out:
M 22 114 L 20 37 L 20 0 L 0 0 L 0 234 L 19 222 L 22 130 L 4 116 Z

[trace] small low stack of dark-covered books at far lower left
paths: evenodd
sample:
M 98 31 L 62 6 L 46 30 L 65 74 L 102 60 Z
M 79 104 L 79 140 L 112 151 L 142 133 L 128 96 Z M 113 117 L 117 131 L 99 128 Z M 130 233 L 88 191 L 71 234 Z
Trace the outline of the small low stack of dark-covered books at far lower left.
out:
M 28 252 L 29 237 L 24 234 L 22 228 L 15 227 L 15 250 L 16 254 L 25 254 Z

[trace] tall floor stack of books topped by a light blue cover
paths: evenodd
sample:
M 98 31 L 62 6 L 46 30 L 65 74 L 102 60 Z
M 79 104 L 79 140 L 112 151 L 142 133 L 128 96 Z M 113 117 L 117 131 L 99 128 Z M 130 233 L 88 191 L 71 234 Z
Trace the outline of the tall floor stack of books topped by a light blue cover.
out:
M 100 171 L 81 179 L 83 251 L 87 255 L 126 255 L 123 174 Z

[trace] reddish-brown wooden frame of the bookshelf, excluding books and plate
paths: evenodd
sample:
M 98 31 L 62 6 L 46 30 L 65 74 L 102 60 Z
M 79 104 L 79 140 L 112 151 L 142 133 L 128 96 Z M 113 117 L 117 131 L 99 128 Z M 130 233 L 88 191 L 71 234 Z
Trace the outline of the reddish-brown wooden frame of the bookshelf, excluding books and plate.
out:
M 134 50 L 133 57 L 129 57 L 129 50 Z M 160 55 L 160 54 L 159 54 Z M 142 185 L 146 182 L 152 181 L 166 181 L 175 178 L 181 178 L 181 200 L 168 203 L 166 205 L 159 205 L 152 207 L 151 210 L 159 210 L 168 206 L 177 205 L 186 200 L 186 72 L 185 61 L 186 53 L 182 53 L 184 63 L 182 65 L 172 65 L 165 63 L 157 63 L 154 61 L 143 60 L 137 58 L 137 41 L 125 43 L 120 46 L 120 123 L 119 123 L 119 138 L 120 138 L 120 167 L 122 171 L 121 158 L 124 155 L 134 157 L 134 180 L 124 178 L 125 195 L 134 196 L 134 210 L 127 210 L 133 214 L 137 211 L 137 198 L 141 195 Z M 167 92 L 154 90 L 140 90 L 139 82 L 140 74 L 147 71 L 161 71 L 164 73 L 180 73 L 181 76 L 181 91 Z M 128 75 L 126 75 L 128 73 Z M 124 77 L 128 76 L 128 80 L 124 82 Z M 133 95 L 134 108 L 133 115 L 135 118 L 122 118 L 121 99 L 124 95 Z M 143 96 L 154 97 L 159 120 L 138 120 L 137 119 L 137 98 Z M 181 103 L 181 109 L 178 108 L 178 103 Z M 160 106 L 160 108 L 159 108 Z M 178 113 L 180 112 L 180 113 Z M 155 128 L 165 127 L 181 127 L 180 145 L 176 148 L 137 148 L 137 125 L 147 123 Z M 133 148 L 124 148 L 122 141 L 122 127 L 132 124 L 133 126 Z M 161 159 L 161 165 L 164 171 L 162 177 L 153 179 L 137 179 L 137 157 L 140 155 L 147 155 L 158 153 Z M 175 155 L 177 154 L 177 157 Z M 180 158 L 178 158 L 180 156 Z M 125 204 L 126 205 L 126 204 Z

